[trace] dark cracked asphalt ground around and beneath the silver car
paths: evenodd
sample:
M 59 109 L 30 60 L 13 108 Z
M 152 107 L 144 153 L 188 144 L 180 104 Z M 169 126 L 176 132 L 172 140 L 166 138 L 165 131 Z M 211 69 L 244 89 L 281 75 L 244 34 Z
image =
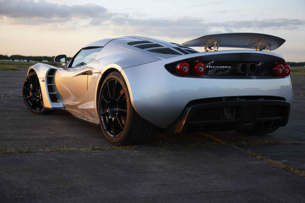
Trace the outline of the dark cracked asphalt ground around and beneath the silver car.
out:
M 0 202 L 304 202 L 305 75 L 291 77 L 300 94 L 288 125 L 267 136 L 158 133 L 134 148 L 114 148 L 99 126 L 66 112 L 29 112 L 25 75 L 0 70 Z M 63 151 L 36 152 L 46 150 Z

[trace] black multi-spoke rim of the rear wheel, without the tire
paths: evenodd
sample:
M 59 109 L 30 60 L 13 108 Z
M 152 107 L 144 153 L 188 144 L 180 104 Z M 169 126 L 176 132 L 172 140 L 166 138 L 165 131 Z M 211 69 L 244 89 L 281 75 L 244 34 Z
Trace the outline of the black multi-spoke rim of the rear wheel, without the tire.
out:
M 118 137 L 127 118 L 126 92 L 120 82 L 111 78 L 102 87 L 100 117 L 108 136 Z

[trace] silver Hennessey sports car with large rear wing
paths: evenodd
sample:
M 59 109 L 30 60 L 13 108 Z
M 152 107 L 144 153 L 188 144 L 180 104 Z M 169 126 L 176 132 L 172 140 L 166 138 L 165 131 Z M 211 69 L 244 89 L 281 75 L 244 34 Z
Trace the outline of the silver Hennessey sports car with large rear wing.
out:
M 29 67 L 22 95 L 33 113 L 66 110 L 122 145 L 164 133 L 266 134 L 288 122 L 290 66 L 271 53 L 284 39 L 260 33 L 203 36 L 182 45 L 127 36 L 81 48 L 61 68 Z M 198 52 L 190 47 L 204 47 Z M 219 47 L 252 48 L 225 50 Z

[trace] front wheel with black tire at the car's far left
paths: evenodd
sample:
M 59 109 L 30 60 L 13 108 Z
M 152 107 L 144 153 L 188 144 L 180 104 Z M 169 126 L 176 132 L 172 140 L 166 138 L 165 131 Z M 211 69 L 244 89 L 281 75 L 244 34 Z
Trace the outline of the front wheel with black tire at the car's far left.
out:
M 26 76 L 22 85 L 22 98 L 25 106 L 32 113 L 47 114 L 51 112 L 43 106 L 40 83 L 35 72 Z

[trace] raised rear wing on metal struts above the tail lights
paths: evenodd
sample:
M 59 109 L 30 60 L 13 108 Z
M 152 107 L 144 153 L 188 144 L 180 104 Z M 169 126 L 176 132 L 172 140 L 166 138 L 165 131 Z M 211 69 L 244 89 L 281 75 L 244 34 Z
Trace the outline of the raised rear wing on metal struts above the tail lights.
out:
M 255 50 L 272 51 L 279 48 L 286 40 L 260 33 L 224 33 L 206 35 L 182 43 L 187 47 L 204 47 L 205 51 L 218 51 L 219 47 L 252 48 Z M 213 48 L 214 47 L 214 48 Z

